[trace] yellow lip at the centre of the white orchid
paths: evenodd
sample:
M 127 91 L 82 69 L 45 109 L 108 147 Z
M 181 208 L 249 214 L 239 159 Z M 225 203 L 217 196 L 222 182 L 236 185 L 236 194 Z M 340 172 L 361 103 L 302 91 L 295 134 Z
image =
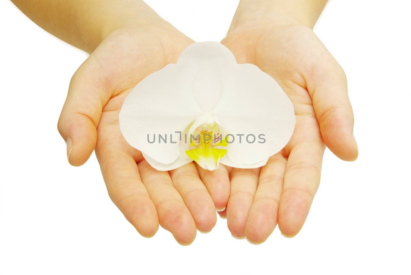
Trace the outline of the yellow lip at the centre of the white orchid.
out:
M 222 134 L 218 133 L 213 136 L 212 131 L 203 130 L 200 132 L 199 138 L 191 137 L 190 139 L 192 147 L 195 148 L 187 150 L 185 153 L 204 169 L 210 171 L 218 169 L 220 159 L 227 153 L 227 150 L 214 148 L 218 145 L 226 146 L 226 144 L 220 143 Z

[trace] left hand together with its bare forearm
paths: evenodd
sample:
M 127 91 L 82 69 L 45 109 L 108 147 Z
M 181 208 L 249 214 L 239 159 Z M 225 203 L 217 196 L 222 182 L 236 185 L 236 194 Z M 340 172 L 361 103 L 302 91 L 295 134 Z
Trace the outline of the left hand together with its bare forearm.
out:
M 210 231 L 216 208 L 228 200 L 227 172 L 206 173 L 194 163 L 157 171 L 129 146 L 118 124 L 129 92 L 194 41 L 143 1 L 13 2 L 45 30 L 90 53 L 72 77 L 58 120 L 69 163 L 82 165 L 95 150 L 110 198 L 142 236 L 161 225 L 188 245 L 196 229 Z

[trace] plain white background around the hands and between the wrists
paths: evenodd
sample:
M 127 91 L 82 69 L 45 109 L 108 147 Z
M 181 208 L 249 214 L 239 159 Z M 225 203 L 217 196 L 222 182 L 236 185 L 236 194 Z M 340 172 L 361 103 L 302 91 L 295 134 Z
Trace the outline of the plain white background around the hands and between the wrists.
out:
M 147 1 L 196 41 L 220 41 L 238 1 Z M 218 219 L 188 247 L 135 231 L 94 156 L 67 163 L 57 120 L 87 54 L 0 2 L 0 273 L 410 274 L 410 2 L 332 0 L 314 31 L 345 69 L 360 155 L 327 149 L 321 185 L 293 239 L 236 240 Z M 407 263 L 408 261 L 408 263 Z

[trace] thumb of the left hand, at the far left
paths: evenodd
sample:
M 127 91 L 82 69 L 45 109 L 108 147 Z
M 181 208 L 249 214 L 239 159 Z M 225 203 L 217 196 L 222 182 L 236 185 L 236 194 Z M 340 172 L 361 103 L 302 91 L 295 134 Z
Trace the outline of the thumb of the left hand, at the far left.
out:
M 58 131 L 67 143 L 67 159 L 74 166 L 87 161 L 96 146 L 96 127 L 110 99 L 102 69 L 91 57 L 73 75 Z

